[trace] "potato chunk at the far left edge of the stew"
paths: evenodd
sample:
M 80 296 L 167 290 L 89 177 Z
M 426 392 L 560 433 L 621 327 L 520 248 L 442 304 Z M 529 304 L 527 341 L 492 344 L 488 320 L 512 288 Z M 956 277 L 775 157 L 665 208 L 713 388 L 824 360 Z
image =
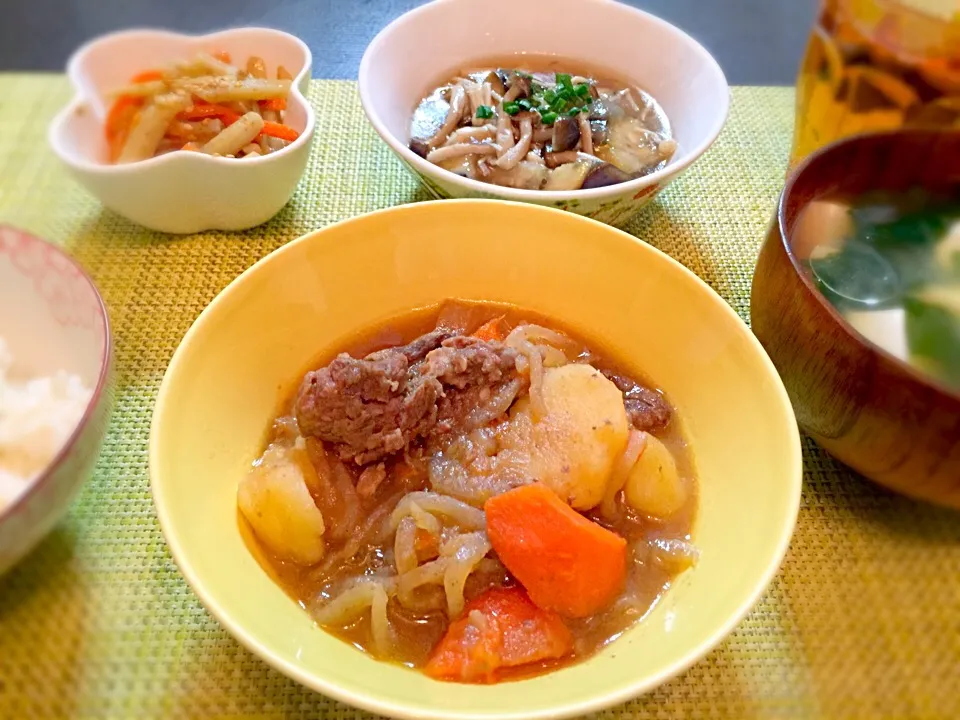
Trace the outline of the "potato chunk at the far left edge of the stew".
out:
M 240 482 L 237 504 L 260 541 L 278 557 L 303 565 L 323 558 L 323 515 L 289 450 L 267 448 L 260 464 Z

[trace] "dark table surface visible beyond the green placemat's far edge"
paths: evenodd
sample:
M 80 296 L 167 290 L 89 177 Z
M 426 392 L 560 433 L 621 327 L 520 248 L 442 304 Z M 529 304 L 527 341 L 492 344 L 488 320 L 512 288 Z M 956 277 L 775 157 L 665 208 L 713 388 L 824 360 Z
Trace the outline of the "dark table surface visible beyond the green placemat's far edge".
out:
M 201 33 L 226 25 L 266 25 L 295 33 L 310 45 L 316 77 L 353 79 L 380 28 L 424 2 L 10 0 L 0 22 L 0 70 L 60 70 L 80 43 L 124 27 Z M 626 2 L 691 33 L 716 56 L 731 83 L 792 85 L 818 0 Z

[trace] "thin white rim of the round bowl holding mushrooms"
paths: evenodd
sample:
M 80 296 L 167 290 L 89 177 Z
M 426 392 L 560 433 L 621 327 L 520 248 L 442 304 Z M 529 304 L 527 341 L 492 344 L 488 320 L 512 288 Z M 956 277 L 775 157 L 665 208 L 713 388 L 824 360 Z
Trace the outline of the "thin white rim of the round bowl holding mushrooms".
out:
M 628 12 L 632 12 L 643 17 L 646 22 L 659 26 L 662 30 L 672 34 L 677 42 L 689 45 L 694 53 L 699 55 L 704 61 L 705 65 L 717 75 L 717 79 L 720 81 L 723 87 L 726 88 L 727 91 L 723 93 L 722 105 L 717 107 L 714 111 L 715 116 L 713 124 L 711 125 L 705 139 L 689 150 L 684 149 L 685 151 L 681 157 L 675 162 L 667 163 L 665 167 L 657 170 L 656 172 L 650 173 L 649 175 L 628 180 L 627 182 L 617 183 L 616 185 L 608 185 L 606 187 L 590 188 L 587 190 L 520 190 L 517 188 L 508 188 L 502 185 L 493 185 L 491 183 L 485 183 L 480 182 L 479 180 L 461 177 L 460 175 L 450 172 L 449 170 L 445 170 L 438 165 L 427 162 L 424 158 L 417 155 L 406 145 L 406 143 L 400 142 L 400 140 L 394 136 L 393 133 L 387 130 L 376 111 L 376 105 L 370 97 L 369 92 L 369 78 L 374 72 L 374 68 L 372 67 L 373 61 L 370 59 L 370 57 L 372 52 L 377 49 L 380 44 L 384 43 L 386 38 L 401 25 L 415 22 L 421 15 L 426 15 L 427 13 L 431 12 L 436 5 L 452 5 L 453 3 L 458 2 L 458 0 L 432 0 L 432 2 L 420 5 L 419 7 L 416 7 L 393 20 L 389 25 L 383 28 L 383 30 L 377 33 L 373 40 L 370 41 L 370 44 L 367 46 L 367 49 L 364 51 L 363 57 L 360 60 L 360 72 L 358 74 L 360 104 L 363 106 L 363 111 L 366 113 L 367 119 L 377 131 L 377 134 L 383 138 L 383 141 L 386 142 L 387 145 L 389 145 L 402 160 L 407 162 L 409 165 L 412 165 L 421 174 L 427 176 L 439 175 L 443 177 L 445 182 L 448 182 L 451 185 L 457 185 L 463 190 L 484 193 L 486 195 L 496 195 L 497 197 L 502 197 L 507 200 L 522 200 L 525 202 L 561 202 L 573 199 L 591 200 L 627 195 L 670 179 L 674 175 L 686 170 L 697 159 L 699 159 L 700 156 L 703 155 L 710 148 L 710 146 L 713 145 L 714 142 L 716 142 L 717 137 L 720 135 L 720 131 L 723 130 L 724 125 L 727 123 L 727 118 L 730 113 L 730 86 L 727 82 L 726 75 L 724 75 L 723 68 L 720 67 L 720 64 L 707 51 L 707 49 L 703 47 L 703 45 L 697 42 L 697 40 L 695 40 L 691 35 L 681 30 L 676 25 L 667 22 L 663 18 L 652 15 L 651 13 L 640 10 L 639 8 L 625 5 L 621 2 L 616 2 L 616 0 L 580 1 L 584 3 L 593 3 L 594 5 L 618 5 Z M 465 60 L 469 59 L 470 58 L 465 58 Z

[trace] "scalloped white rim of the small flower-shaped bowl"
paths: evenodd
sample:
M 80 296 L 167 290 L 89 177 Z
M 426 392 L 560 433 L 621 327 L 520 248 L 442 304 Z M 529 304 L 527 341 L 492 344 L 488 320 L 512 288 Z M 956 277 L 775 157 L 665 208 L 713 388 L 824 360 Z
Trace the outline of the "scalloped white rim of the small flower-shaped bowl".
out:
M 81 45 L 67 60 L 67 77 L 70 78 L 71 85 L 74 89 L 74 96 L 57 115 L 50 122 L 50 125 L 47 129 L 47 143 L 50 147 L 53 148 L 53 151 L 57 156 L 69 166 L 81 170 L 83 172 L 95 173 L 101 175 L 125 175 L 129 173 L 137 173 L 141 171 L 146 171 L 151 168 L 160 167 L 164 164 L 171 163 L 195 163 L 197 165 L 203 164 L 218 164 L 218 165 L 229 165 L 233 166 L 236 164 L 236 160 L 233 158 L 226 157 L 214 157 L 212 155 L 206 155 L 204 153 L 190 153 L 190 152 L 171 152 L 165 155 L 160 155 L 158 157 L 147 158 L 146 160 L 140 160 L 134 163 L 127 163 L 124 165 L 113 165 L 110 163 L 98 163 L 92 162 L 90 160 L 78 160 L 74 157 L 70 157 L 65 153 L 60 147 L 60 143 L 57 140 L 57 130 L 67 121 L 74 112 L 76 112 L 80 107 L 83 107 L 86 103 L 89 102 L 88 98 L 84 95 L 83 90 L 80 87 L 80 84 L 77 78 L 81 75 L 80 68 L 83 65 L 83 60 L 86 58 L 87 54 L 90 53 L 93 48 L 108 42 L 114 42 L 116 40 L 121 40 L 129 36 L 138 36 L 138 35 L 153 35 L 155 37 L 164 37 L 168 39 L 177 39 L 177 40 L 206 40 L 208 38 L 213 39 L 221 37 L 224 35 L 230 35 L 238 31 L 249 32 L 263 32 L 269 33 L 272 35 L 277 35 L 283 37 L 285 40 L 297 45 L 297 47 L 304 53 L 306 62 L 304 66 L 300 68 L 300 72 L 293 78 L 293 81 L 290 83 L 290 94 L 295 96 L 301 103 L 306 111 L 306 125 L 303 128 L 303 132 L 300 133 L 300 137 L 294 140 L 292 143 L 284 147 L 282 150 L 277 152 L 268 153 L 267 155 L 261 155 L 260 157 L 254 158 L 244 158 L 244 166 L 250 165 L 263 165 L 266 163 L 276 162 L 278 158 L 287 154 L 287 150 L 294 150 L 295 148 L 300 147 L 301 145 L 308 144 L 312 138 L 314 129 L 316 126 L 316 115 L 313 110 L 313 106 L 310 104 L 310 101 L 300 92 L 300 83 L 302 82 L 303 76 L 306 73 L 312 72 L 313 68 L 313 53 L 310 52 L 309 46 L 298 38 L 296 35 L 292 35 L 283 30 L 277 30 L 275 28 L 268 27 L 259 27 L 259 26 L 238 26 L 232 28 L 226 28 L 223 30 L 217 30 L 210 33 L 180 33 L 173 30 L 162 30 L 156 28 L 148 27 L 135 27 L 135 28 L 126 28 L 124 30 L 117 30 L 116 32 L 106 33 L 103 35 L 98 35 L 91 40 L 88 40 L 83 45 Z

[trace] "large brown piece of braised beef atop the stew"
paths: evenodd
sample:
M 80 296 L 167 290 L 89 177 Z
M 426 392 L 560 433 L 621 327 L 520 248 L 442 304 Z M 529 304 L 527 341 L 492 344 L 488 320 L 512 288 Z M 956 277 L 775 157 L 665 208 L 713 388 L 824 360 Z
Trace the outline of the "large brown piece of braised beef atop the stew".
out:
M 516 353 L 452 335 L 436 330 L 363 359 L 342 354 L 307 373 L 295 405 L 300 431 L 365 465 L 464 428 L 472 410 L 518 377 Z

